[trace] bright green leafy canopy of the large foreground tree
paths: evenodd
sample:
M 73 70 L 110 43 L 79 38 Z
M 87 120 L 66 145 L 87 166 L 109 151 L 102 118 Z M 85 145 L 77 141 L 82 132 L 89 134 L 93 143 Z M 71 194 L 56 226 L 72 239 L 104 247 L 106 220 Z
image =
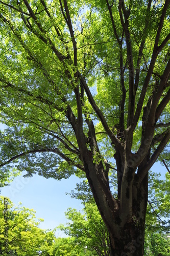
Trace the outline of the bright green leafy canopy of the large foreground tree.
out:
M 60 2 L 61 7 L 58 8 Z M 74 127 L 70 123 L 68 112 L 78 117 L 75 93 L 78 69 L 90 88 L 91 94 L 116 136 L 122 111 L 127 125 L 129 99 L 129 68 L 127 65 L 126 40 L 124 29 L 117 13 L 117 1 L 112 6 L 117 34 L 112 29 L 112 22 L 107 10 L 107 1 L 67 1 L 74 39 L 66 19 L 66 10 L 62 10 L 62 1 L 27 1 L 1 2 L 1 122 L 8 125 L 1 132 L 1 165 L 3 174 L 9 168 L 27 170 L 28 175 L 38 172 L 44 177 L 56 179 L 68 178 L 83 169 L 80 161 L 79 146 Z M 157 19 L 163 8 L 163 1 L 150 3 L 147 11 L 145 1 L 126 1 L 131 6 L 129 27 L 131 31 L 134 63 L 137 62 L 139 42 L 145 41 L 140 66 L 139 92 L 143 79 L 149 68 L 156 37 Z M 64 9 L 64 8 L 63 8 Z M 148 13 L 148 14 L 147 14 Z M 142 14 L 142 15 L 141 15 Z M 147 22 L 145 19 L 147 16 Z M 169 10 L 167 11 L 163 30 L 159 39 L 160 54 L 156 60 L 150 86 L 143 104 L 147 104 L 154 84 L 159 82 L 168 61 L 169 51 Z M 139 26 L 140 25 L 140 26 Z M 136 29 L 136 27 L 138 29 Z M 122 36 L 122 49 L 116 42 Z M 77 42 L 77 67 L 74 65 L 72 44 Z M 119 67 L 119 51 L 122 51 L 123 67 Z M 139 65 L 139 63 L 138 63 Z M 121 74 L 124 69 L 126 100 L 124 110 L 122 102 Z M 79 77 L 80 80 L 80 77 Z M 168 83 L 160 101 L 168 92 Z M 82 88 L 82 87 L 81 87 Z M 102 120 L 93 110 L 86 89 L 81 89 L 83 97 L 82 112 L 83 132 L 88 138 L 88 118 L 94 120 L 96 138 L 100 147 L 100 157 L 113 164 L 114 149 L 104 131 Z M 169 94 L 167 94 L 168 96 Z M 136 95 L 138 102 L 140 94 Z M 92 104 L 92 105 L 90 105 Z M 136 108 L 136 106 L 135 106 Z M 69 110 L 68 110 L 69 109 Z M 67 112 L 67 113 L 66 113 Z M 70 114 L 69 113 L 69 114 Z M 160 124 L 155 131 L 155 143 L 160 142 L 158 135 L 166 133 L 169 125 L 169 105 L 165 106 L 160 116 Z M 133 135 L 133 151 L 141 142 L 142 113 Z M 163 125 L 167 123 L 167 125 Z M 154 147 L 151 148 L 154 152 Z M 168 158 L 164 150 L 163 158 Z M 98 161 L 98 154 L 93 156 Z M 13 163 L 13 167 L 9 163 Z M 15 167 L 14 167 L 15 166 Z M 78 168 L 76 170 L 75 167 Z M 1 170 L 2 172 L 2 170 Z M 3 177 L 3 176 L 2 176 Z

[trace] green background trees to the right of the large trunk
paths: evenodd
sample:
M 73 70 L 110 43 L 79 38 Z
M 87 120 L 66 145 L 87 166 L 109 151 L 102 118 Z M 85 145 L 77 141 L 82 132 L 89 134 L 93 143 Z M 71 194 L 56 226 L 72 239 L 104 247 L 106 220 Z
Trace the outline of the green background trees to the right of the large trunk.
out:
M 145 255 L 170 255 L 170 176 L 160 180 L 153 174 L 149 180 L 149 204 L 145 224 Z

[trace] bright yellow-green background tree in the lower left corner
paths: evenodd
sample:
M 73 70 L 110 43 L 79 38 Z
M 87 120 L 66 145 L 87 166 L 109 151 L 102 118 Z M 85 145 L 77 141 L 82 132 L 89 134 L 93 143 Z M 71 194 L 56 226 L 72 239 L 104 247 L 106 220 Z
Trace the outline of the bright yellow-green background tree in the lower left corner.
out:
M 42 219 L 36 220 L 35 211 L 24 206 L 14 207 L 8 199 L 8 246 L 5 247 L 4 197 L 0 199 L 0 252 L 1 255 L 53 255 L 54 231 L 38 227 Z

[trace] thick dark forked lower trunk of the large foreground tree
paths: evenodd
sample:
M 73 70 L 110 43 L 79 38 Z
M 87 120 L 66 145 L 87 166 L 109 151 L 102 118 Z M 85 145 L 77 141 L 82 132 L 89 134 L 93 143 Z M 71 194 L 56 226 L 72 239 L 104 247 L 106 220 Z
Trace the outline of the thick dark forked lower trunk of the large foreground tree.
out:
M 110 255 L 142 256 L 148 177 L 139 184 L 138 174 L 135 174 L 136 167 L 129 167 L 128 162 L 125 164 L 126 160 L 116 154 L 119 189 L 118 198 L 115 199 L 110 191 L 108 172 L 102 161 L 95 163 L 92 153 L 86 148 L 83 153 L 86 177 L 109 232 Z

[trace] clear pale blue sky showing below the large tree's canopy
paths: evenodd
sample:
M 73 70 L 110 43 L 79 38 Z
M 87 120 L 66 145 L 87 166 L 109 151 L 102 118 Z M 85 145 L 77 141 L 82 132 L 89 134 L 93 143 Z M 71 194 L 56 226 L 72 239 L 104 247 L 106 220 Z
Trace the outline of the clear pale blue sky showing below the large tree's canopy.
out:
M 159 163 L 152 167 L 154 172 L 160 172 L 164 179 L 166 168 Z M 22 174 L 23 175 L 23 174 Z M 80 179 L 71 176 L 67 180 L 57 181 L 52 178 L 45 179 L 38 175 L 32 178 L 16 177 L 10 186 L 1 189 L 1 196 L 9 197 L 17 205 L 19 202 L 23 206 L 36 210 L 36 217 L 44 219 L 40 224 L 42 229 L 53 229 L 59 224 L 65 224 L 64 212 L 68 207 L 82 210 L 80 200 L 72 199 L 65 193 L 70 193 L 79 183 Z M 64 233 L 58 230 L 57 237 L 64 237 Z

